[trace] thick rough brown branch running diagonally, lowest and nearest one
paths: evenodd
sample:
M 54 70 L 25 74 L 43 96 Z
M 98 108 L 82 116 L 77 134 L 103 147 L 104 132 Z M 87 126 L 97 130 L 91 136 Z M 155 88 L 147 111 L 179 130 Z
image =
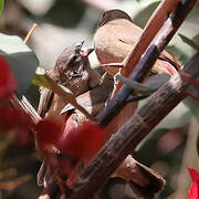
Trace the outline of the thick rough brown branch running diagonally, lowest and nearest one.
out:
M 198 64 L 199 54 L 186 64 L 184 72 L 190 74 L 191 77 L 198 76 Z M 92 163 L 75 179 L 71 199 L 84 199 L 87 196 L 92 198 L 128 153 L 186 97 L 185 90 L 189 85 L 179 74 L 176 74 L 158 90 L 150 101 L 112 136 Z

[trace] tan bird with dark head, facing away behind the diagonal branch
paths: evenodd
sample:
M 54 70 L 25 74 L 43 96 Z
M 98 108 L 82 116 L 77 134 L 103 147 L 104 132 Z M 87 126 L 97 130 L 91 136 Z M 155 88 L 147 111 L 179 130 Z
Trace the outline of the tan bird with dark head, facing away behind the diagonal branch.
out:
M 133 50 L 142 35 L 143 29 L 133 23 L 132 18 L 124 11 L 113 9 L 105 11 L 98 20 L 94 34 L 94 49 L 100 63 L 122 63 Z M 167 62 L 168 65 L 163 64 Z M 176 60 L 164 51 L 151 69 L 151 74 L 176 72 Z M 170 65 L 169 65 L 170 64 Z M 118 72 L 118 67 L 104 67 L 111 75 Z

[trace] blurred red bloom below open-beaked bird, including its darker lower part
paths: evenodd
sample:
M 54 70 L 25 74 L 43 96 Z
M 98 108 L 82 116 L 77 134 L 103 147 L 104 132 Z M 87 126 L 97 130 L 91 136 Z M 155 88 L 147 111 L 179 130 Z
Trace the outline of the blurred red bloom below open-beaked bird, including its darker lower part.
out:
M 92 122 L 74 126 L 73 115 L 64 125 L 57 121 L 44 118 L 35 126 L 36 147 L 43 160 L 59 170 L 60 175 L 74 178 L 78 160 L 84 164 L 97 153 L 104 142 L 103 128 Z

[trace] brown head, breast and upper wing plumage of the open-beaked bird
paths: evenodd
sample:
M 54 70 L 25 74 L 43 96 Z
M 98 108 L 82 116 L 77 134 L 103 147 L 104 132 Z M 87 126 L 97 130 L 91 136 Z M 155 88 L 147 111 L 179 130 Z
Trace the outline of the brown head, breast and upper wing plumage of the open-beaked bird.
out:
M 91 50 L 82 50 L 83 42 L 74 43 L 66 48 L 56 60 L 55 66 L 48 74 L 59 84 L 70 88 L 75 96 L 86 92 L 100 83 L 101 75 L 91 69 L 88 54 Z M 38 113 L 42 117 L 60 117 L 60 112 L 65 106 L 64 101 L 52 91 L 41 88 Z

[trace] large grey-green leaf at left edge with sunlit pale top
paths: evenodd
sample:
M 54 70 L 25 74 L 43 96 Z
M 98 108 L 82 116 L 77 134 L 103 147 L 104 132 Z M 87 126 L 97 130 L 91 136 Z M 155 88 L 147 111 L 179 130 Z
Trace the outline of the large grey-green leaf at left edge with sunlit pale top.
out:
M 18 81 L 18 96 L 22 96 L 34 76 L 39 61 L 34 52 L 15 35 L 0 33 L 0 51 Z

